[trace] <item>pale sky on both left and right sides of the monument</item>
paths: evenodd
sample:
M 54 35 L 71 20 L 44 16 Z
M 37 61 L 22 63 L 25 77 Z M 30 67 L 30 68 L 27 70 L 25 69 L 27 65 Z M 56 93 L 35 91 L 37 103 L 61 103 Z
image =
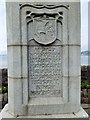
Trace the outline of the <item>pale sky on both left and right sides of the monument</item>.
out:
M 88 1 L 81 0 L 81 51 L 88 50 Z M 4 0 L 0 0 L 0 54 L 7 51 L 6 9 Z

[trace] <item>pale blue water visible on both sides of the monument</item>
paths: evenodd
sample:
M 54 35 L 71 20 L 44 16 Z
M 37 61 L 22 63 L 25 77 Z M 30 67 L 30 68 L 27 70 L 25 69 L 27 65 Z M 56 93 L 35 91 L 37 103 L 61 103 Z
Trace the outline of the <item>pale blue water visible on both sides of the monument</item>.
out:
M 81 65 L 90 65 L 88 56 L 81 56 Z M 0 55 L 0 68 L 7 68 L 7 55 Z

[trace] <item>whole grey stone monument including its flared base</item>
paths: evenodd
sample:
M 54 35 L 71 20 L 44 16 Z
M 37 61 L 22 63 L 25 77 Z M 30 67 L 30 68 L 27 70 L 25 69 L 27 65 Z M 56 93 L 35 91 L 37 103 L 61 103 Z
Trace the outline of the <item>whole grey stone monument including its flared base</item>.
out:
M 80 103 L 80 2 L 7 2 L 4 118 L 88 119 Z

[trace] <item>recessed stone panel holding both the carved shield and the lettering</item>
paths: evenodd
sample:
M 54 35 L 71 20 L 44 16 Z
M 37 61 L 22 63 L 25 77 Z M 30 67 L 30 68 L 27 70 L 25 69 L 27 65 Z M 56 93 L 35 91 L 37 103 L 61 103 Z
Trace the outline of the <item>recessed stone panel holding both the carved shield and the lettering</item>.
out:
M 62 96 L 62 24 L 56 16 L 32 13 L 28 19 L 29 97 Z

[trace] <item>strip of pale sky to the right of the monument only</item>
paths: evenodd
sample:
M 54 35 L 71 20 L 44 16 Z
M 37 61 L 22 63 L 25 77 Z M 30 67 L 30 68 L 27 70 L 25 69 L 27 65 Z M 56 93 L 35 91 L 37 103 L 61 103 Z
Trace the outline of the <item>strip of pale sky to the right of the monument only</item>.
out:
M 81 3 L 81 50 L 88 50 L 88 0 Z

